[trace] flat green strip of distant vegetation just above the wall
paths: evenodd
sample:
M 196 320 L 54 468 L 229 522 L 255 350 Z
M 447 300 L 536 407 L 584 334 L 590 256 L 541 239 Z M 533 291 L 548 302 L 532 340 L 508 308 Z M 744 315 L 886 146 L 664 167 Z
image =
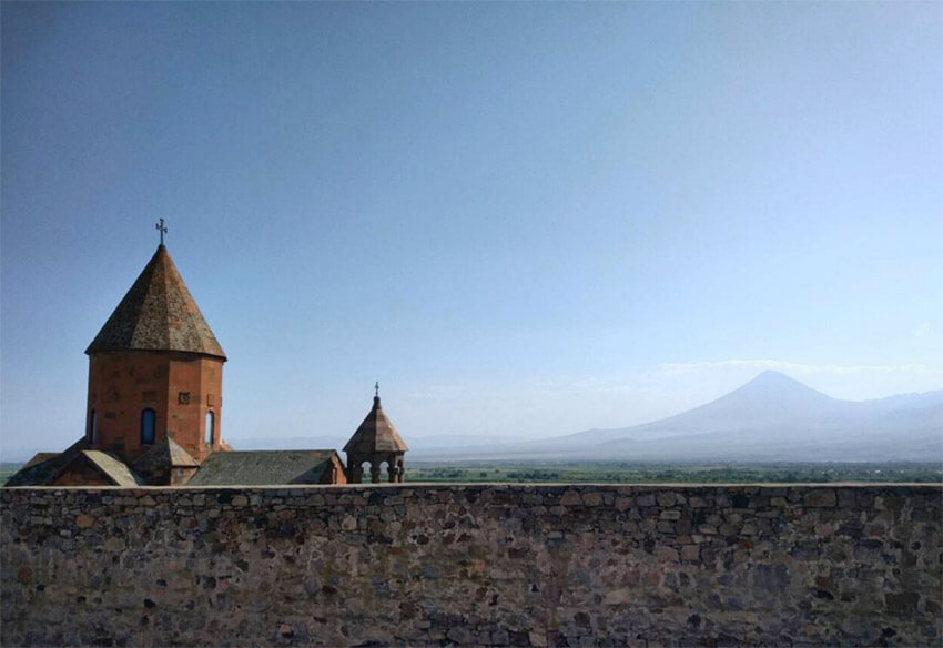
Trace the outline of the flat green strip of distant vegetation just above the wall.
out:
M 750 484 L 825 482 L 943 483 L 940 463 L 649 464 L 631 462 L 412 462 L 408 482 L 591 482 Z

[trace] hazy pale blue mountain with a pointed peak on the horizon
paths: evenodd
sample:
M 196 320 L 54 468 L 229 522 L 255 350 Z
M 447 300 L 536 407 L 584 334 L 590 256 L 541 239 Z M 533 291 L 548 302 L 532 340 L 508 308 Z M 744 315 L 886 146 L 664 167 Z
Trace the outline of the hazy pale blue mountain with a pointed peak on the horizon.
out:
M 943 391 L 841 401 L 764 372 L 700 407 L 632 427 L 488 448 L 453 457 L 575 460 L 941 460 Z M 444 457 L 444 455 L 443 455 Z

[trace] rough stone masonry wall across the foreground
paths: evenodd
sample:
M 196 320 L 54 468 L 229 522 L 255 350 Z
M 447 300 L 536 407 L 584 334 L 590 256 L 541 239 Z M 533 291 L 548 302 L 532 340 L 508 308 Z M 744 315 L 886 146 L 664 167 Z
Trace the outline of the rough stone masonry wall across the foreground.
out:
M 0 641 L 939 646 L 936 486 L 0 490 Z

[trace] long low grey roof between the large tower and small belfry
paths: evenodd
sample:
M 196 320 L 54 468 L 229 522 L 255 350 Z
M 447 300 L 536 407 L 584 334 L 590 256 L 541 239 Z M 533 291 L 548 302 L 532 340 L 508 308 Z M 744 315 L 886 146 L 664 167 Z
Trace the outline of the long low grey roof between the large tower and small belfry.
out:
M 334 450 L 250 450 L 213 453 L 203 460 L 187 486 L 274 486 L 322 484 L 335 465 L 344 469 Z

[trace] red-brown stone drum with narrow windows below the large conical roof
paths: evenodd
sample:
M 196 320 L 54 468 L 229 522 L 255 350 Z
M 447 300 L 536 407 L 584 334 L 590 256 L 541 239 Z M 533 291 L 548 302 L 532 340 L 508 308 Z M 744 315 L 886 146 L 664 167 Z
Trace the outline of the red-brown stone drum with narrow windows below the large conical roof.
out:
M 168 351 L 92 354 L 87 429 L 91 447 L 128 460 L 139 457 L 150 447 L 141 444 L 142 414 L 152 408 L 155 441 L 170 434 L 202 460 L 213 450 L 205 443 L 206 412 L 213 412 L 213 442 L 216 447 L 220 444 L 222 385 L 223 361 L 216 357 Z M 181 398 L 181 393 L 186 397 Z

